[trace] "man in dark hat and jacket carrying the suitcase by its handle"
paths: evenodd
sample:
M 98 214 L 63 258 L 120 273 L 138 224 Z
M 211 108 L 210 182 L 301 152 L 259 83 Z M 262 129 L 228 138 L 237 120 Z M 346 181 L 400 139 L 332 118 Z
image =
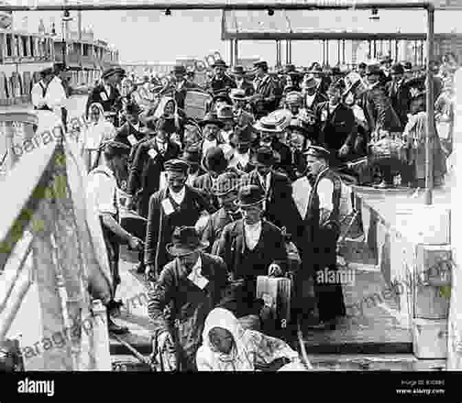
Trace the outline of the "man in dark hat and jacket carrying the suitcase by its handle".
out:
M 237 205 L 243 218 L 225 226 L 217 243 L 217 255 L 225 261 L 234 287 L 234 301 L 229 301 L 228 309 L 237 318 L 261 313 L 257 276 L 282 276 L 287 270 L 283 233 L 263 219 L 264 201 L 260 186 L 241 186 Z

